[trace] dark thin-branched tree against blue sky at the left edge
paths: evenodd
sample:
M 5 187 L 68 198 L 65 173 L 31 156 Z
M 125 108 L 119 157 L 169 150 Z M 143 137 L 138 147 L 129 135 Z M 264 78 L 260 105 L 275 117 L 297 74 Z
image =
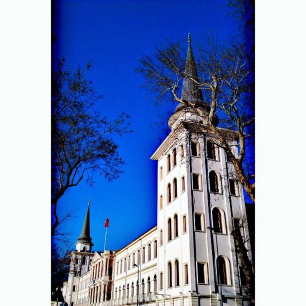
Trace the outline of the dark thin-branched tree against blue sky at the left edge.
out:
M 124 161 L 118 154 L 114 135 L 130 132 L 126 113 L 108 120 L 96 110 L 102 95 L 87 79 L 84 69 L 64 68 L 64 59 L 52 71 L 51 88 L 51 235 L 60 224 L 57 203 L 64 192 L 85 179 L 94 183 L 97 172 L 112 180 L 122 172 Z

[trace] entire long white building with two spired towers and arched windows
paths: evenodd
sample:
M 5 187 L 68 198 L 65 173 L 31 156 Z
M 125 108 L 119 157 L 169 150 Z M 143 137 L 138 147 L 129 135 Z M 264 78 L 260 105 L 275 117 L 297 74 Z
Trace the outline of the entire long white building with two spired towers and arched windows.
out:
M 190 40 L 186 69 L 196 73 Z M 190 79 L 183 81 L 182 97 L 209 111 Z M 246 215 L 242 187 L 214 135 L 208 129 L 200 133 L 193 130 L 190 122 L 202 119 L 193 109 L 179 104 L 168 121 L 170 134 L 151 157 L 157 160 L 158 171 L 155 227 L 120 250 L 96 252 L 94 256 L 86 252 L 91 250 L 91 238 L 87 235 L 83 239 L 81 234 L 73 253 L 79 258 L 93 256 L 89 283 L 87 288 L 78 286 L 74 295 L 67 289 L 72 292 L 71 299 L 66 299 L 68 305 L 75 305 L 74 301 L 99 306 L 249 303 L 243 297 L 242 269 L 230 235 Z M 223 131 L 237 155 L 235 132 Z M 87 213 L 89 233 L 89 206 Z M 243 231 L 248 234 L 246 223 Z M 84 253 L 82 247 L 88 247 Z M 246 247 L 250 257 L 248 242 Z M 81 270 L 79 282 L 86 283 L 82 275 L 88 279 L 87 265 L 85 270 Z M 69 279 L 72 286 L 76 284 L 72 276 Z

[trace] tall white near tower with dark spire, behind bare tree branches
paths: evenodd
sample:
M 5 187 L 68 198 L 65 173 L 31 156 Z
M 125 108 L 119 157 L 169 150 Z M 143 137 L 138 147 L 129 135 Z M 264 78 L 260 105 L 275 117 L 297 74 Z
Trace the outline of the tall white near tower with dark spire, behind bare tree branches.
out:
M 197 77 L 190 35 L 185 73 Z M 183 80 L 181 97 L 208 115 L 209 105 L 193 80 Z M 200 132 L 194 122 L 202 123 Z M 171 132 L 151 157 L 158 161 L 158 294 L 182 295 L 198 306 L 241 305 L 243 277 L 230 232 L 246 215 L 243 191 L 206 123 L 178 104 L 168 120 Z M 236 134 L 227 134 L 237 155 Z M 247 226 L 243 232 L 248 234 Z

